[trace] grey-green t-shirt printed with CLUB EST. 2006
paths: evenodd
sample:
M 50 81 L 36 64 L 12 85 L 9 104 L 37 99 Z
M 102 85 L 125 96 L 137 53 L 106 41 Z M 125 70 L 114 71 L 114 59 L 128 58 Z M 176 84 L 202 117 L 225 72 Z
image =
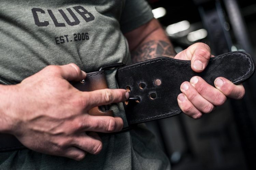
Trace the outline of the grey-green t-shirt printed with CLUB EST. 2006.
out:
M 144 0 L 1 0 L 0 83 L 17 84 L 47 65 L 75 63 L 86 72 L 105 64 L 130 64 L 124 33 L 153 18 Z M 107 72 L 118 88 L 116 70 Z M 127 126 L 123 104 L 115 116 Z M 100 154 L 82 161 L 29 149 L 1 152 L 0 169 L 168 169 L 154 136 L 143 126 L 116 135 L 101 134 Z

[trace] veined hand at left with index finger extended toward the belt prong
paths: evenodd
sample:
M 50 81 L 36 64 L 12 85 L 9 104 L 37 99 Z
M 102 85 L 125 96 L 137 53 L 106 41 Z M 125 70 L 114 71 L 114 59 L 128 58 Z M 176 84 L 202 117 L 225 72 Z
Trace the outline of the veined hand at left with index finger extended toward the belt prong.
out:
M 129 94 L 124 89 L 82 92 L 69 83 L 85 78 L 86 73 L 75 64 L 47 66 L 10 86 L 12 95 L 6 97 L 8 104 L 0 112 L 0 122 L 5 124 L 2 133 L 13 134 L 27 148 L 46 154 L 76 160 L 83 159 L 87 152 L 98 154 L 102 142 L 95 132 L 120 131 L 123 120 L 91 116 L 88 110 L 123 102 Z

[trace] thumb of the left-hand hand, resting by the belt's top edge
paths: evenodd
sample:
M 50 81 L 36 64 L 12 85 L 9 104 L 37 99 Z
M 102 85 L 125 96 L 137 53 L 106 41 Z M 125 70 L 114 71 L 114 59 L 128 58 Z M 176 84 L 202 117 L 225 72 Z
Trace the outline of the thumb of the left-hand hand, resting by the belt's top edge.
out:
M 68 81 L 81 81 L 86 77 L 86 73 L 74 63 L 59 67 L 61 68 L 61 76 Z

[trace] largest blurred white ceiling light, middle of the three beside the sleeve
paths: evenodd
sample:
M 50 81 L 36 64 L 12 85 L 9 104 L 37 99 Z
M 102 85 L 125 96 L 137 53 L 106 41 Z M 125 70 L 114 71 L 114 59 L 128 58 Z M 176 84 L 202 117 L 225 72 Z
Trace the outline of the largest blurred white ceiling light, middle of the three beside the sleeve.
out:
M 184 21 L 169 25 L 166 28 L 166 32 L 169 35 L 172 35 L 172 34 L 187 30 L 189 27 L 190 27 L 190 23 L 188 21 L 184 20 Z

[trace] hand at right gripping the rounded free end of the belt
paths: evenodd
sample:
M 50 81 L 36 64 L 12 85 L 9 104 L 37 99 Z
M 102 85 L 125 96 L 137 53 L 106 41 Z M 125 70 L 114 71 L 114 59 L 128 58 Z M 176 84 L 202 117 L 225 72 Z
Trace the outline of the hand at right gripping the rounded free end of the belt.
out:
M 178 53 L 174 58 L 191 60 L 191 68 L 195 72 L 202 72 L 210 60 L 210 47 L 203 43 L 195 43 Z M 214 81 L 215 87 L 195 76 L 190 82 L 181 84 L 181 94 L 177 97 L 178 104 L 186 115 L 197 119 L 204 113 L 210 113 L 215 106 L 222 105 L 227 97 L 241 99 L 245 94 L 242 84 L 234 85 L 229 80 L 218 77 Z

